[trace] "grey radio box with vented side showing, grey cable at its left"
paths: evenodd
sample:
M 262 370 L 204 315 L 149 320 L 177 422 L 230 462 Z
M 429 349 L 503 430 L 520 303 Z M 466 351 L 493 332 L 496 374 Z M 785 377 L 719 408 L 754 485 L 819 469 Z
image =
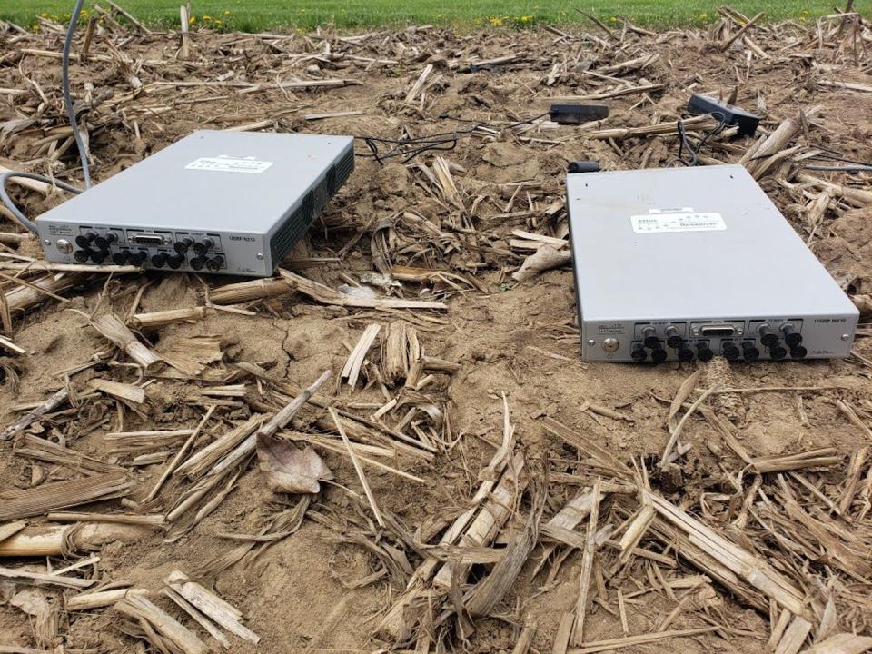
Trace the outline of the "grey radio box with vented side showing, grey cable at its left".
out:
M 353 169 L 349 136 L 194 132 L 36 225 L 50 262 L 264 277 Z

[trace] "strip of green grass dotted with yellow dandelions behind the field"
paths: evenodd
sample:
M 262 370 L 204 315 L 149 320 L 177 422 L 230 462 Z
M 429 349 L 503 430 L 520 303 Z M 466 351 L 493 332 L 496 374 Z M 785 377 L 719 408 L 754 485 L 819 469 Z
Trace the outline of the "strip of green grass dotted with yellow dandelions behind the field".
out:
M 37 15 L 63 21 L 73 0 L 0 0 L 0 18 L 19 25 L 35 25 Z M 90 5 L 90 2 L 88 3 Z M 120 0 L 120 5 L 149 25 L 171 27 L 179 23 L 179 0 Z M 716 20 L 721 2 L 693 0 L 192 0 L 197 24 L 223 30 L 262 31 L 308 29 L 316 25 L 338 27 L 436 24 L 524 27 L 585 20 L 579 7 L 605 22 L 626 15 L 639 25 L 699 25 Z M 768 20 L 795 18 L 812 22 L 833 13 L 832 0 L 734 0 L 729 3 L 746 15 L 765 11 Z M 861 10 L 867 2 L 857 3 Z M 615 21 L 617 19 L 615 18 Z

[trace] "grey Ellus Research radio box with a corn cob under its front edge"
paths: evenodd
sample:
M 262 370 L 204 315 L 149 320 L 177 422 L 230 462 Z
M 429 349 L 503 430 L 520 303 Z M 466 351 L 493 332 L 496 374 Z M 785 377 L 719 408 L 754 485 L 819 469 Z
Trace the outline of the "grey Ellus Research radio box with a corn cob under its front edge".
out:
M 845 357 L 859 314 L 744 167 L 567 175 L 581 358 Z

